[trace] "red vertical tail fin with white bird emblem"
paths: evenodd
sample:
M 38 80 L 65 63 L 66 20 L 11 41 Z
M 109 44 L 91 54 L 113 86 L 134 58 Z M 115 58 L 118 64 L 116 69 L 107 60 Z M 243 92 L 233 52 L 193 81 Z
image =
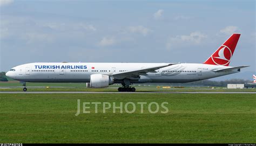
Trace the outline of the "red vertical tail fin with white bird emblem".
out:
M 210 65 L 224 65 L 228 66 L 232 55 L 234 54 L 235 46 L 237 46 L 240 34 L 232 34 L 217 51 L 215 51 L 204 64 Z

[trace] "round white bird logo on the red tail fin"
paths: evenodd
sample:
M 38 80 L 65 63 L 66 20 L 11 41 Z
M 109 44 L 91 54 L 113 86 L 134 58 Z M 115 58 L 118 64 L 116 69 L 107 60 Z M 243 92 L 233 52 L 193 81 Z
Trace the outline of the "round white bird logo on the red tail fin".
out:
M 227 65 L 232 57 L 232 52 L 230 48 L 222 45 L 218 51 L 212 54 L 212 61 L 216 65 Z

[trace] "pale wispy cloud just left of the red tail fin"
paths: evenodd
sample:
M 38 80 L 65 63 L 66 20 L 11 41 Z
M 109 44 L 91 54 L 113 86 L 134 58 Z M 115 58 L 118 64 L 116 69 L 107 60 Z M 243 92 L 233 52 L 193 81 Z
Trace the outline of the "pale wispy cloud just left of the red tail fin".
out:
M 179 47 L 184 45 L 197 45 L 200 44 L 203 39 L 207 38 L 206 34 L 201 32 L 192 32 L 190 35 L 180 35 L 176 37 L 170 37 L 167 40 L 166 48 Z

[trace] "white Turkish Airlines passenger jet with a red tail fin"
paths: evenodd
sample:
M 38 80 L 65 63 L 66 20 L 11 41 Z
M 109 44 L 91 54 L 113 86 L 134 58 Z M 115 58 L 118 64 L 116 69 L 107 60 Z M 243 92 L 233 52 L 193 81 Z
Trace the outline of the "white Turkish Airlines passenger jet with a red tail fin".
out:
M 89 88 L 122 84 L 119 92 L 135 92 L 133 84 L 185 83 L 238 73 L 248 66 L 229 66 L 240 34 L 234 33 L 203 64 L 35 62 L 13 67 L 6 76 L 24 82 L 86 82 Z

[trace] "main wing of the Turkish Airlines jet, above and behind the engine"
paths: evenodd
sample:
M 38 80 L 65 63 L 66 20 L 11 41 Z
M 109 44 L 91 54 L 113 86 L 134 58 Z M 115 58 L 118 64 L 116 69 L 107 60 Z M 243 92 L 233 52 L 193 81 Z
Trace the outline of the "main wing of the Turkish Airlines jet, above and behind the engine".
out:
M 122 72 L 122 73 L 114 73 L 112 74 L 114 78 L 126 78 L 126 77 L 139 77 L 139 75 L 146 74 L 146 73 L 156 73 L 157 69 L 166 67 L 166 66 L 171 66 L 171 65 L 176 65 L 176 64 L 161 64 L 159 66 L 153 66 L 153 67 L 143 67 L 139 69 L 134 69 L 133 71 L 127 71 L 127 72 Z

